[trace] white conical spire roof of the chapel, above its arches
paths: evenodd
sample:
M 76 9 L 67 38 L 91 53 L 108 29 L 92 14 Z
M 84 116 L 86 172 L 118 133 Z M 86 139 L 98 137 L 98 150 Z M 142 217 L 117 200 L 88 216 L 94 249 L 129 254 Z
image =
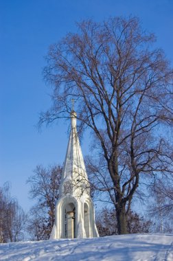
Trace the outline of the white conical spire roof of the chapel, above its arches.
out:
M 84 159 L 82 156 L 82 150 L 80 147 L 80 141 L 76 128 L 76 112 L 71 111 L 71 132 L 69 136 L 69 143 L 67 146 L 67 152 L 65 157 L 64 168 L 62 170 L 61 189 L 60 194 L 64 194 L 65 185 L 71 184 L 71 194 L 76 190 L 75 185 L 79 187 L 87 185 L 88 177 L 84 166 Z

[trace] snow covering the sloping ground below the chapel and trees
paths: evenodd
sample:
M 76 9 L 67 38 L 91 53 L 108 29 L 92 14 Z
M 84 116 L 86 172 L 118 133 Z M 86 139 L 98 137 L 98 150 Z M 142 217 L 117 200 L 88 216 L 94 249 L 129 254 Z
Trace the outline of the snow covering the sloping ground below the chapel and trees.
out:
M 129 234 L 0 244 L 0 260 L 172 261 L 173 234 Z

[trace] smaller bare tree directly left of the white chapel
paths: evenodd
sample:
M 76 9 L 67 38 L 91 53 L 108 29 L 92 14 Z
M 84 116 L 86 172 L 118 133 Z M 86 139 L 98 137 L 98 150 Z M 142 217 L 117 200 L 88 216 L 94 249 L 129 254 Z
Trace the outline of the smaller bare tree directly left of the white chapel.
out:
M 49 239 L 54 225 L 55 205 L 59 196 L 60 166 L 43 168 L 37 166 L 27 183 L 30 184 L 30 196 L 36 204 L 30 209 L 28 231 L 32 240 Z

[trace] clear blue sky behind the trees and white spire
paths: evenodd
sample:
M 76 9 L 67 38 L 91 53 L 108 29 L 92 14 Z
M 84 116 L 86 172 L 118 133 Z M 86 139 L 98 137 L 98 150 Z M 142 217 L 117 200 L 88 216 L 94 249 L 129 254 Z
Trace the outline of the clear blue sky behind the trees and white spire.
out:
M 51 104 L 42 76 L 49 45 L 75 32 L 76 21 L 129 14 L 173 61 L 173 0 L 0 0 L 0 186 L 10 181 L 25 210 L 32 205 L 27 178 L 38 164 L 62 163 L 67 148 L 67 123 L 41 133 L 34 127 Z

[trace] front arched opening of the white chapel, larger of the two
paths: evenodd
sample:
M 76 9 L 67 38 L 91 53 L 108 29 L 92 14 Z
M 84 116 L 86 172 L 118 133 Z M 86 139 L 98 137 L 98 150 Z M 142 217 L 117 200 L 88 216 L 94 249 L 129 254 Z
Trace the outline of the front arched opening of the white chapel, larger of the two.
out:
M 65 238 L 76 238 L 76 208 L 73 203 L 65 206 Z

